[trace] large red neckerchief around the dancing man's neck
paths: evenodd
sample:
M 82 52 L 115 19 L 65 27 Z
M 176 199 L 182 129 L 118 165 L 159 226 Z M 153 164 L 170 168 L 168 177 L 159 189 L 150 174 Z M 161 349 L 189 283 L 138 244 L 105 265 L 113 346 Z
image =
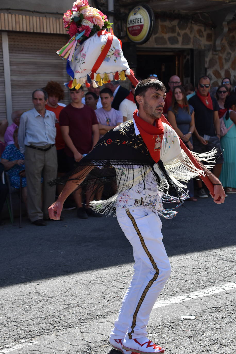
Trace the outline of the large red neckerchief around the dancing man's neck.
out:
M 138 110 L 134 111 L 133 117 L 143 138 L 146 147 L 155 162 L 160 160 L 161 142 L 164 135 L 164 127 L 161 119 L 156 119 L 156 126 L 146 122 L 138 116 Z

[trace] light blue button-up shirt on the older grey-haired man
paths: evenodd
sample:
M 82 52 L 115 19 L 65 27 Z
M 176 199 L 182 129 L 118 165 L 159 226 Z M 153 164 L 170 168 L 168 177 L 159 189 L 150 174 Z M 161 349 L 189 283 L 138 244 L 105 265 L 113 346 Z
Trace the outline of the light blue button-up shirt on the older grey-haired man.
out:
M 35 108 L 24 112 L 18 129 L 18 143 L 21 153 L 24 154 L 25 145 L 43 147 L 55 144 L 55 122 L 56 115 L 49 110 L 45 111 L 44 118 Z

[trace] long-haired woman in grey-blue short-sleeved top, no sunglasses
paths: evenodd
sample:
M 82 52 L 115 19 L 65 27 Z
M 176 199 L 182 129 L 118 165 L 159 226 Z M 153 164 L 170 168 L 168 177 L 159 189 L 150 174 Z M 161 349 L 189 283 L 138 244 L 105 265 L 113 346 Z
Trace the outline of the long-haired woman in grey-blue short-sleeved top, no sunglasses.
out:
M 192 150 L 192 133 L 195 129 L 194 108 L 188 104 L 183 86 L 175 86 L 172 94 L 172 105 L 168 109 L 167 119 L 185 145 Z M 187 183 L 189 200 L 197 201 L 194 197 L 194 181 Z

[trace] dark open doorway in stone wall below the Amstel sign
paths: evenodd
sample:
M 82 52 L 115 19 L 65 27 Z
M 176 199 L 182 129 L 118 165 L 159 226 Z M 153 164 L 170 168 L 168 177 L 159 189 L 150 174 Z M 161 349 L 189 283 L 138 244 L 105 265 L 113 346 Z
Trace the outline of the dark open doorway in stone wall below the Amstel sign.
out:
M 146 79 L 156 74 L 160 81 L 169 89 L 168 82 L 172 75 L 178 75 L 183 82 L 184 52 L 157 52 L 137 50 L 136 75 Z

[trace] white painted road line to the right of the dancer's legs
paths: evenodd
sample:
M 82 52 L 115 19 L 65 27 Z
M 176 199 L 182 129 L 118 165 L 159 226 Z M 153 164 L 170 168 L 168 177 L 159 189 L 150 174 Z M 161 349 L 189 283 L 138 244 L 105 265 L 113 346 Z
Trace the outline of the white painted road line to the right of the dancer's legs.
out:
M 181 302 L 189 301 L 191 299 L 196 299 L 201 296 L 211 296 L 219 292 L 225 292 L 227 290 L 232 290 L 232 289 L 236 289 L 236 283 L 226 283 L 220 286 L 213 286 L 207 289 L 190 292 L 189 294 L 183 294 L 183 295 L 171 297 L 170 299 L 157 301 L 154 304 L 153 308 L 155 309 L 157 307 L 167 306 L 171 304 L 179 304 Z

